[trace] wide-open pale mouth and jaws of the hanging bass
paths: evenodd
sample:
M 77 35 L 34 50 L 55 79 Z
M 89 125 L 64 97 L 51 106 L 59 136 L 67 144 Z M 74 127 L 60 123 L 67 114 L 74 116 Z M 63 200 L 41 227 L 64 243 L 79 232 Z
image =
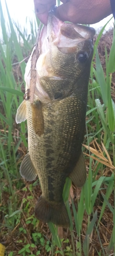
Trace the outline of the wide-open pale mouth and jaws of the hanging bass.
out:
M 47 27 L 44 26 L 40 36 L 41 53 L 45 53 L 54 43 L 63 53 L 71 53 L 84 40 L 93 40 L 95 30 L 92 27 L 64 23 L 49 13 Z

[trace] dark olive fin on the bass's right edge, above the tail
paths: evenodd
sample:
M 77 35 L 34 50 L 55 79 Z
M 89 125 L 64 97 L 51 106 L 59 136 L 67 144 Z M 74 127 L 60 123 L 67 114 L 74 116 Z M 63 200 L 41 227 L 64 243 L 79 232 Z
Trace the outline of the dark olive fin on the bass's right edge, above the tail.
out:
M 82 151 L 76 166 L 69 175 L 69 178 L 77 187 L 82 187 L 86 181 L 86 166 Z

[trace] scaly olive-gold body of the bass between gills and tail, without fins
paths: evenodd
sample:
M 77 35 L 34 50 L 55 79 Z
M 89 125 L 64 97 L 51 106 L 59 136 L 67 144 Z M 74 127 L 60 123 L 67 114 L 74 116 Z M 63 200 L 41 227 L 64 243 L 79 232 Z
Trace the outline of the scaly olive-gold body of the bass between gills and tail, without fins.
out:
M 52 200 L 52 196 L 50 198 L 51 193 L 54 195 L 54 201 L 57 200 L 57 197 L 58 201 L 62 200 L 62 192 L 65 179 L 71 171 L 71 163 L 69 164 L 69 159 L 72 158 L 73 154 L 76 155 L 74 153 L 75 149 L 76 152 L 79 152 L 76 156 L 73 156 L 75 163 L 77 162 L 77 158 L 79 158 L 79 155 L 81 154 L 80 149 L 82 138 L 80 141 L 80 133 L 82 133 L 82 126 L 80 126 L 80 116 L 82 116 L 83 118 L 83 115 L 80 112 L 80 108 L 77 115 L 77 103 L 79 103 L 79 100 L 77 101 L 77 99 L 75 100 L 75 97 L 70 97 L 69 100 L 68 98 L 66 98 L 61 101 L 48 104 L 48 106 L 43 104 L 42 111 L 45 121 L 45 130 L 44 134 L 41 137 L 39 137 L 34 133 L 33 130 L 31 116 L 32 108 L 30 102 L 26 101 L 26 111 L 28 116 L 27 124 L 29 154 L 30 156 L 34 156 L 33 163 L 35 169 L 38 170 L 38 176 L 40 179 L 42 192 L 45 198 L 49 201 Z M 57 115 L 56 110 L 58 110 L 59 113 Z M 63 119 L 60 118 L 62 117 L 62 115 Z M 52 119 L 54 121 L 54 125 L 50 125 L 50 120 Z M 32 136 L 32 134 L 34 134 L 34 136 Z M 76 138 L 78 138 L 78 142 L 76 141 Z M 47 141 L 48 144 L 46 145 Z M 46 150 L 48 150 L 49 152 L 48 155 L 46 154 Z M 75 165 L 74 162 L 73 165 Z M 62 177 L 62 171 L 64 169 L 65 171 L 63 172 Z M 54 176 L 55 173 L 57 173 L 57 176 Z M 54 177 L 54 182 L 52 182 L 51 187 L 56 187 L 56 192 L 53 192 L 53 190 L 49 190 L 50 186 L 48 185 L 49 182 L 47 182 L 49 175 L 50 177 Z M 60 180 L 61 183 L 63 181 L 63 183 L 61 184 L 61 188 L 59 182 Z

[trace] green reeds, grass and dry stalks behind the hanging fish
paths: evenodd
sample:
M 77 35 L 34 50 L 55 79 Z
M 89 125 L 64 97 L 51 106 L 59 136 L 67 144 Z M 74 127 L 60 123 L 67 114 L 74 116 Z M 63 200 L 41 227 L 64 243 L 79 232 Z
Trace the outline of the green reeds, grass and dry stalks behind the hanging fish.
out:
M 7 7 L 7 6 L 6 6 Z M 82 189 L 66 181 L 63 197 L 70 229 L 44 225 L 34 217 L 39 180 L 26 182 L 20 164 L 27 153 L 27 124 L 15 122 L 23 101 L 24 71 L 34 46 L 31 34 L 12 22 L 9 33 L 0 2 L 0 243 L 5 256 L 115 255 L 115 29 L 94 40 L 83 153 L 87 181 Z M 37 21 L 39 23 L 39 21 Z M 24 59 L 24 61 L 23 61 Z

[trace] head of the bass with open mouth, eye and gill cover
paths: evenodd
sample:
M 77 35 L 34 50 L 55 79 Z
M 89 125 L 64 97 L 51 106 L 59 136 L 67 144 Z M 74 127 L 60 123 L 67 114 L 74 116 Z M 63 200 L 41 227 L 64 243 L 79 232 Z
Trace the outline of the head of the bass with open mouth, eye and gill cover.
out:
M 59 91 L 60 88 L 57 89 L 57 86 L 62 85 L 66 95 L 64 83 L 67 91 L 73 92 L 77 89 L 76 81 L 79 78 L 82 80 L 85 77 L 88 81 L 94 34 L 93 28 L 64 23 L 50 12 L 47 26 L 43 27 L 40 34 L 41 54 L 36 63 L 39 80 L 37 88 L 41 86 L 49 98 L 55 99 L 55 89 Z

